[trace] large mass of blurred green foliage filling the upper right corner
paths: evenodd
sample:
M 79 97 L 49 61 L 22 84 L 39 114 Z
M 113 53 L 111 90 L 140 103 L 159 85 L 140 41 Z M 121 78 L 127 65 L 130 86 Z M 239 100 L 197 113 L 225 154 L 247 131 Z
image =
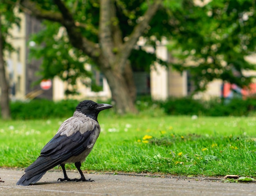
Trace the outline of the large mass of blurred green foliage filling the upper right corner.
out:
M 215 78 L 240 87 L 248 85 L 253 76 L 243 71 L 255 70 L 255 65 L 245 60 L 255 53 L 255 1 L 197 2 L 186 0 L 183 9 L 170 13 L 174 39 L 168 47 L 179 59 L 173 66 L 189 70 L 196 91 L 206 89 Z

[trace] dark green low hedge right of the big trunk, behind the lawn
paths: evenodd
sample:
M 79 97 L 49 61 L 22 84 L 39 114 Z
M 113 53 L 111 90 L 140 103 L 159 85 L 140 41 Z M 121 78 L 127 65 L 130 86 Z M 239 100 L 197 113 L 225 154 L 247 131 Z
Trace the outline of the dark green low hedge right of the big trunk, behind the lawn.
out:
M 169 115 L 249 116 L 256 109 L 255 98 L 234 98 L 225 102 L 220 98 L 205 101 L 184 97 L 169 98 L 159 104 Z

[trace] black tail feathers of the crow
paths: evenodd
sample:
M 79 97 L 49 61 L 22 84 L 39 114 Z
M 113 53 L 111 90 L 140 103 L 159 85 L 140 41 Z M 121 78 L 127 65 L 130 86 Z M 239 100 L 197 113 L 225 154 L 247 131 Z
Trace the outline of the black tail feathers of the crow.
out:
M 60 159 L 53 160 L 49 156 L 39 156 L 34 163 L 25 169 L 25 174 L 16 185 L 27 186 L 36 183 L 49 169 L 61 164 Z

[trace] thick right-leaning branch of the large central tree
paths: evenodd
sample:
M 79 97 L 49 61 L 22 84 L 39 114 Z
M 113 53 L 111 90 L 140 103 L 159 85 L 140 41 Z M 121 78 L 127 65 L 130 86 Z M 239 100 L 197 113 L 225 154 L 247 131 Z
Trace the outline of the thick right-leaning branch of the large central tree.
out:
M 129 57 L 130 52 L 132 51 L 134 45 L 136 45 L 137 40 L 143 34 L 146 27 L 148 27 L 151 19 L 159 9 L 160 5 L 162 4 L 163 0 L 155 0 L 153 4 L 149 5 L 148 10 L 145 12 L 143 16 L 141 16 L 141 22 L 139 22 L 135 28 L 133 29 L 132 33 L 128 37 L 128 40 L 124 43 L 119 51 L 119 58 L 117 58 L 117 62 L 121 66 L 121 72 L 124 72 L 126 63 L 125 60 Z

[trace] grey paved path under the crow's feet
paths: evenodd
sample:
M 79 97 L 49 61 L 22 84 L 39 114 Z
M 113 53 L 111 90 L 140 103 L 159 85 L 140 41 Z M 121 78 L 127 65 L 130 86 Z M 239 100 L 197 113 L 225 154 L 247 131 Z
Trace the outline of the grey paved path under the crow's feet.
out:
M 205 178 L 164 178 L 85 174 L 95 182 L 57 182 L 61 171 L 48 171 L 35 185 L 17 186 L 23 171 L 0 169 L 0 196 L 255 196 L 256 183 L 222 183 Z M 70 178 L 79 173 L 68 171 Z

